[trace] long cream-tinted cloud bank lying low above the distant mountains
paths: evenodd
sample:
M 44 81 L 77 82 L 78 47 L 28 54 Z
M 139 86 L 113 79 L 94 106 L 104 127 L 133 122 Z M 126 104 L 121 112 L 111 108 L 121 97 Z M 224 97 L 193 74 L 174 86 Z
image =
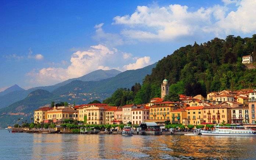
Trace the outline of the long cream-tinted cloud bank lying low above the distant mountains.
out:
M 77 78 L 95 70 L 110 70 L 112 68 L 122 71 L 132 70 L 149 65 L 150 57 L 138 58 L 135 63 L 128 65 L 126 60 L 133 61 L 132 54 L 124 59 L 121 55 L 126 53 L 118 51 L 115 48 L 109 48 L 105 45 L 90 46 L 88 50 L 76 51 L 70 58 L 70 65 L 63 67 L 48 67 L 39 70 L 32 70 L 26 75 L 30 82 L 37 85 L 52 85 L 54 83 L 65 81 L 69 78 Z M 114 66 L 113 64 L 118 64 Z M 111 67 L 109 66 L 111 65 Z

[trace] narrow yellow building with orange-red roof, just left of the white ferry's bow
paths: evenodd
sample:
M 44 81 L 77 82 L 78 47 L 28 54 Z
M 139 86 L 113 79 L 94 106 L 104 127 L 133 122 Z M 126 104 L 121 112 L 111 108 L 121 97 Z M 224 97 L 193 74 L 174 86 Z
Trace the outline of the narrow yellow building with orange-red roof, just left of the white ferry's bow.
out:
M 186 107 L 188 124 L 199 125 L 204 122 L 203 121 L 203 108 L 204 108 L 204 106 Z

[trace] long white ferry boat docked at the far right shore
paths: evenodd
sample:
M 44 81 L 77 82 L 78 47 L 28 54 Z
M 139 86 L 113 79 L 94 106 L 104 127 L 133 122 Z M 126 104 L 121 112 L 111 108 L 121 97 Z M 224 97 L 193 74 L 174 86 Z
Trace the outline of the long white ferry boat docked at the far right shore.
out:
M 201 130 L 202 135 L 256 136 L 256 131 L 245 126 L 214 126 L 213 131 Z

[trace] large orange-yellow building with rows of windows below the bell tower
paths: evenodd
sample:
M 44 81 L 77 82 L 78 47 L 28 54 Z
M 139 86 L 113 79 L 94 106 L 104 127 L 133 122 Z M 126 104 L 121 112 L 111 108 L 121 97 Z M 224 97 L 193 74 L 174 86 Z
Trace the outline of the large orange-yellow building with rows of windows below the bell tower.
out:
M 183 103 L 178 102 L 161 102 L 156 103 L 149 107 L 149 120 L 150 122 L 156 122 L 164 124 L 165 121 L 171 120 L 171 112 L 180 108 L 184 108 Z

